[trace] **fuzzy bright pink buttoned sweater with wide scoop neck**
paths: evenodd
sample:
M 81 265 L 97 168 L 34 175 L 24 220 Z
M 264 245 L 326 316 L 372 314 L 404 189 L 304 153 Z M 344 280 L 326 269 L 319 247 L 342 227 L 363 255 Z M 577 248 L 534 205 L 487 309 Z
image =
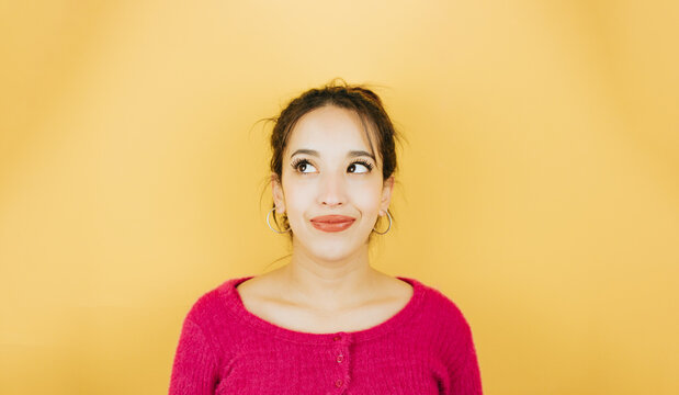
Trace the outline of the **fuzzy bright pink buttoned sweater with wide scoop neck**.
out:
M 309 334 L 248 312 L 230 279 L 186 315 L 170 394 L 482 394 L 472 331 L 457 306 L 412 285 L 408 304 L 369 329 Z

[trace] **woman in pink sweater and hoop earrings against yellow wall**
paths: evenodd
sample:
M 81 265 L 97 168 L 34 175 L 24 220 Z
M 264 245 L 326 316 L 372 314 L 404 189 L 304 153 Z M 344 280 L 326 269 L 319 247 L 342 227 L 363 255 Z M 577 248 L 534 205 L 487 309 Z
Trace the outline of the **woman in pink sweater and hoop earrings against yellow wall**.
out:
M 372 235 L 392 225 L 396 170 L 397 136 L 380 98 L 331 82 L 274 121 L 267 223 L 291 237 L 291 262 L 199 298 L 170 394 L 482 394 L 456 305 L 370 266 Z

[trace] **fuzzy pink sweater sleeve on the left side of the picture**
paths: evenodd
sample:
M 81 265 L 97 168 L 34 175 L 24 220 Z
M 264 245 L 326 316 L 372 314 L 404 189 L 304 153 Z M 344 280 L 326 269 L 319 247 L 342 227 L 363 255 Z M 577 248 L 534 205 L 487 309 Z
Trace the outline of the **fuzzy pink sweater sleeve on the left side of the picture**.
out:
M 184 319 L 174 354 L 170 395 L 213 395 L 217 382 L 213 348 L 201 327 Z

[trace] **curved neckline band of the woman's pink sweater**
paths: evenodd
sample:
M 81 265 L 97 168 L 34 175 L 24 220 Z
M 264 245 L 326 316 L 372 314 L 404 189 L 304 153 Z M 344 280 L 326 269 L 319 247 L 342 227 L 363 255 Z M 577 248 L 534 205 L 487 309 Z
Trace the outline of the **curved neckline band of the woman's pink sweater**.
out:
M 405 281 L 412 286 L 412 295 L 408 303 L 392 317 L 362 330 L 314 334 L 281 327 L 246 309 L 236 286 L 252 278 L 253 275 L 230 279 L 219 286 L 222 297 L 226 302 L 227 311 L 234 318 L 247 323 L 264 335 L 297 343 L 324 345 L 335 342 L 361 342 L 385 335 L 408 323 L 412 314 L 419 309 L 425 294 L 423 284 L 419 281 L 406 276 L 396 276 L 396 279 Z

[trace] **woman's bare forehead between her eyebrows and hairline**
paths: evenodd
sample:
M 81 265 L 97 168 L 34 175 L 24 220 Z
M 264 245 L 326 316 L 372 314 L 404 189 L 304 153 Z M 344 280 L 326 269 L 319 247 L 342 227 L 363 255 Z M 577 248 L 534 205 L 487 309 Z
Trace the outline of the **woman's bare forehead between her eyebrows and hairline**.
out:
M 367 125 L 363 125 L 354 111 L 333 105 L 318 108 L 297 121 L 287 142 L 286 153 L 297 148 L 315 149 L 321 155 L 343 155 L 354 149 L 371 153 L 365 127 Z

